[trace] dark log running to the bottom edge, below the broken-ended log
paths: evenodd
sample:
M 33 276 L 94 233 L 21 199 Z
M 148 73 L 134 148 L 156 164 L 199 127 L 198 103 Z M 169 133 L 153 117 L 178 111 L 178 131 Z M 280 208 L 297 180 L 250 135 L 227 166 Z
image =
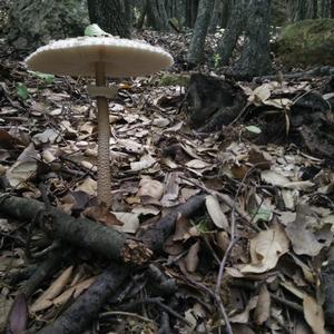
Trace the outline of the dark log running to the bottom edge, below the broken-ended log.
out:
M 106 301 L 124 283 L 128 273 L 129 269 L 126 266 L 117 264 L 110 266 L 67 311 L 38 334 L 84 333 L 88 325 L 97 318 L 99 310 Z

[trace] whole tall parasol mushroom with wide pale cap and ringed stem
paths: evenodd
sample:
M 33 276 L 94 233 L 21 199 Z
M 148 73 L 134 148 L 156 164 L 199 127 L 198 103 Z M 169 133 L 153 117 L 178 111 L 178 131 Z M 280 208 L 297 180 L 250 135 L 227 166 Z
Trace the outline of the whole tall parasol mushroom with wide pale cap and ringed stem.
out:
M 107 87 L 107 77 L 132 77 L 156 72 L 173 63 L 171 56 L 144 41 L 110 35 L 53 41 L 26 59 L 29 69 L 59 76 L 96 78 L 88 92 L 97 97 L 98 109 L 98 200 L 111 204 L 110 126 L 107 98 L 117 94 Z

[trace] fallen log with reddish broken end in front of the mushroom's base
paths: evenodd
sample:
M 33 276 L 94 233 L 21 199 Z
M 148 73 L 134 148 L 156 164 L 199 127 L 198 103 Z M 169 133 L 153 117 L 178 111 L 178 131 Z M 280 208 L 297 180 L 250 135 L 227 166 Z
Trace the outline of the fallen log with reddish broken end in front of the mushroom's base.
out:
M 131 240 L 110 227 L 88 218 L 71 217 L 55 207 L 46 212 L 45 205 L 35 199 L 2 195 L 0 214 L 20 220 L 35 220 L 50 237 L 107 258 L 140 264 L 151 254 L 140 242 Z

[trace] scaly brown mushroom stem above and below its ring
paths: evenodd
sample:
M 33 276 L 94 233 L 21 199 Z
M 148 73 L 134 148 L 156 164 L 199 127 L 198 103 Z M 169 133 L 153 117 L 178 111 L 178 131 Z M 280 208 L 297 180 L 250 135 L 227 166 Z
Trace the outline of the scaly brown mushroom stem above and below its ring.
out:
M 102 62 L 96 62 L 96 86 L 106 86 L 106 70 Z M 107 206 L 111 204 L 111 176 L 110 176 L 110 127 L 108 101 L 106 97 L 97 97 L 98 108 L 98 202 Z

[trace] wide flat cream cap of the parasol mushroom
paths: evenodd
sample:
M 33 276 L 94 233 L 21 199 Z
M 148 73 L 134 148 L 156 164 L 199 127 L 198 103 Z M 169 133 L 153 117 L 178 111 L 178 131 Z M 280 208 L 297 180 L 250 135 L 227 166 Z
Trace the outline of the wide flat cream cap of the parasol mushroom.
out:
M 106 76 L 132 77 L 156 72 L 173 65 L 173 57 L 144 41 L 116 37 L 77 37 L 53 41 L 31 53 L 31 70 L 59 76 L 95 77 L 96 62 Z

